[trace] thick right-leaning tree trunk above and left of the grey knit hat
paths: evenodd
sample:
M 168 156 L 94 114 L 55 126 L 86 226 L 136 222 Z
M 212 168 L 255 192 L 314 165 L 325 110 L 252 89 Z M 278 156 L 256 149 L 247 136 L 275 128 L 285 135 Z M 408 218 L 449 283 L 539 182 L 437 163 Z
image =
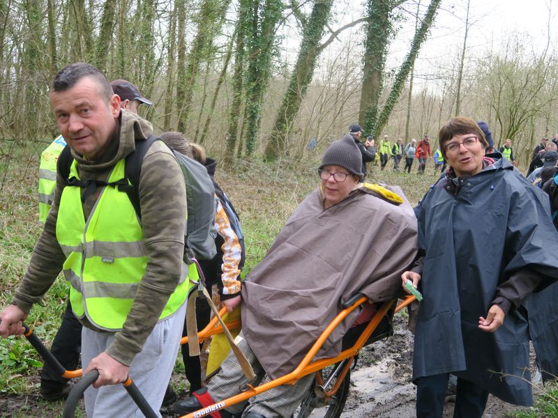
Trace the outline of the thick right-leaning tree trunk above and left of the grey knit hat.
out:
M 316 0 L 310 19 L 306 23 L 301 42 L 299 57 L 291 75 L 291 80 L 271 131 L 264 157 L 276 160 L 287 150 L 287 137 L 296 114 L 298 114 L 306 88 L 312 81 L 314 68 L 319 54 L 319 41 L 324 33 L 324 26 L 329 19 L 333 0 Z

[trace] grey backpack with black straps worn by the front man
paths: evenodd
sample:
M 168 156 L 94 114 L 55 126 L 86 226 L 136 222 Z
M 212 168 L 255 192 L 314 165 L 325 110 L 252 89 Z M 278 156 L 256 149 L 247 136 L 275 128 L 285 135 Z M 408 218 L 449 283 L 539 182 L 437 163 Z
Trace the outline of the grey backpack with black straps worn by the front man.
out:
M 125 178 L 114 183 L 100 182 L 97 180 L 77 180 L 77 178 L 74 177 L 69 178 L 70 167 L 74 160 L 69 146 L 66 146 L 60 154 L 58 171 L 65 180 L 66 186 L 77 186 L 85 189 L 85 192 L 82 194 L 82 202 L 85 201 L 91 193 L 95 192 L 96 188 L 99 186 L 110 185 L 112 187 L 118 187 L 121 192 L 126 192 L 128 195 L 128 199 L 130 199 L 130 203 L 132 203 L 137 217 L 141 222 L 142 211 L 140 208 L 140 195 L 137 185 L 140 184 L 144 156 L 151 144 L 157 140 L 163 141 L 151 134 L 145 141 L 136 141 L 135 151 L 126 156 L 124 169 Z M 170 149 L 172 150 L 172 148 Z M 185 261 L 191 262 L 188 258 L 192 256 L 196 256 L 202 260 L 211 260 L 211 258 L 216 255 L 216 231 L 214 226 L 216 209 L 214 193 L 216 190 L 213 187 L 213 181 L 202 164 L 185 157 L 175 150 L 172 150 L 172 152 L 174 153 L 176 161 L 179 163 L 184 177 L 184 183 L 186 184 L 188 225 L 184 238 Z M 186 255 L 188 255 L 188 257 L 186 257 Z

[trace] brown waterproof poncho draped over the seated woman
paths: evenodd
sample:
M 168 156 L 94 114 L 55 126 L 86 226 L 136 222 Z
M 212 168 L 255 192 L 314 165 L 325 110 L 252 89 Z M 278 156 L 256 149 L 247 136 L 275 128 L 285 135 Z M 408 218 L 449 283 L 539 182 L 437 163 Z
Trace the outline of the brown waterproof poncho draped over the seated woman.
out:
M 243 334 L 266 373 L 292 371 L 354 293 L 375 302 L 398 295 L 415 254 L 416 219 L 406 200 L 395 205 L 361 188 L 324 210 L 319 190 L 312 192 L 243 283 Z M 357 314 L 315 359 L 340 352 Z

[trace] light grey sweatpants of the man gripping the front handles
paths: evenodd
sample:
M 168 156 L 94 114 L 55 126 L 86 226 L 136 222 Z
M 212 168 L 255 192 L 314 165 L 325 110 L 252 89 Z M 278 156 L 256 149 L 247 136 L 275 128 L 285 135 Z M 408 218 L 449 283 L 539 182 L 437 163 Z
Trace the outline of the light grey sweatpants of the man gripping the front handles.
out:
M 179 350 L 185 316 L 186 302 L 174 315 L 155 325 L 144 348 L 130 364 L 130 378 L 159 417 L 159 409 Z M 84 370 L 91 359 L 103 353 L 112 341 L 114 341 L 114 332 L 95 332 L 83 327 Z M 107 385 L 99 389 L 90 386 L 85 391 L 84 398 L 88 418 L 144 417 L 123 385 Z

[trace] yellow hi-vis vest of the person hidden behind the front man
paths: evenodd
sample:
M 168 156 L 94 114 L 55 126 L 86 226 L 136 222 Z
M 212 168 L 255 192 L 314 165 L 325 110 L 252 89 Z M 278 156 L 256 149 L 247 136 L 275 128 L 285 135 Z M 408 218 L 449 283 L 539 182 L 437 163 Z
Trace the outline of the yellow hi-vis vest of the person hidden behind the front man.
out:
M 60 153 L 66 146 L 66 141 L 62 135 L 54 139 L 40 155 L 39 165 L 39 220 L 45 222 L 47 219 L 52 200 L 54 199 L 54 189 L 56 189 L 56 162 Z

